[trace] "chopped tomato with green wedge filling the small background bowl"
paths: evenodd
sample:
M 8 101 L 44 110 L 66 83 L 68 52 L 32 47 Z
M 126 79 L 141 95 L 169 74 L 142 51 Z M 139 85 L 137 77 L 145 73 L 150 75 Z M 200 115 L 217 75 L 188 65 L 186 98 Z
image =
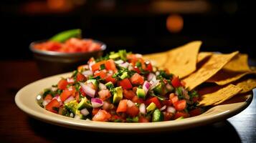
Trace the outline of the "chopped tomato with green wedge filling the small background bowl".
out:
M 34 49 L 42 51 L 57 51 L 63 53 L 77 53 L 99 51 L 101 44 L 93 39 L 81 39 L 81 30 L 72 29 L 62 31 L 60 34 L 52 36 L 47 41 L 34 44 Z

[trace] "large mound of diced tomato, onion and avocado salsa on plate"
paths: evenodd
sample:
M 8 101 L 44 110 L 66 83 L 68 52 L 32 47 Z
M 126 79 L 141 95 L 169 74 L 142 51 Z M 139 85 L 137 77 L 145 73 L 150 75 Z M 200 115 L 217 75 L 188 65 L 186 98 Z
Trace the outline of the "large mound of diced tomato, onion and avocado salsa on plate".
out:
M 75 119 L 99 122 L 161 122 L 202 114 L 199 94 L 158 69 L 141 54 L 125 50 L 91 58 L 71 77 L 42 93 L 42 107 Z

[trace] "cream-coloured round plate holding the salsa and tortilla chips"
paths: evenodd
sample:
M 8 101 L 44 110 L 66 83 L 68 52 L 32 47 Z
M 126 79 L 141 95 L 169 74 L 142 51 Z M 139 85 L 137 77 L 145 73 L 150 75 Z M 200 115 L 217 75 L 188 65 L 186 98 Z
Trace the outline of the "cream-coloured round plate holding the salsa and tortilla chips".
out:
M 243 109 L 248 107 L 252 102 L 253 97 L 252 94 L 236 97 L 234 98 L 235 101 L 232 103 L 229 102 L 229 104 L 218 105 L 207 110 L 204 114 L 181 120 L 151 123 L 93 122 L 90 120 L 73 119 L 54 114 L 48 112 L 37 104 L 36 97 L 39 92 L 42 92 L 43 89 L 50 87 L 52 84 L 56 84 L 57 81 L 60 80 L 60 77 L 69 77 L 70 74 L 71 73 L 58 74 L 53 77 L 47 77 L 23 87 L 16 94 L 16 105 L 31 117 L 62 127 L 98 132 L 156 132 L 163 130 L 187 129 L 227 119 L 242 112 Z

